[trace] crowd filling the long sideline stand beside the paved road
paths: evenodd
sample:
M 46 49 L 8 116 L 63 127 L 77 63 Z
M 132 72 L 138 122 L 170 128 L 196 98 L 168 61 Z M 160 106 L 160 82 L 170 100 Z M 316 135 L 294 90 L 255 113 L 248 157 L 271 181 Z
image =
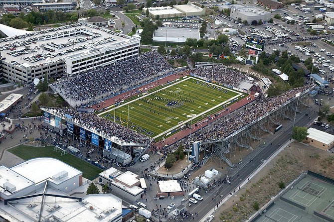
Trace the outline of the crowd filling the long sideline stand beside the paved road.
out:
M 249 104 L 247 108 L 245 108 L 245 111 L 242 111 L 231 118 L 223 118 L 220 122 L 216 122 L 212 128 L 205 132 L 195 133 L 194 140 L 199 141 L 226 138 L 237 130 L 254 122 L 259 117 L 271 111 L 275 111 L 287 101 L 295 98 L 297 93 L 304 92 L 310 87 L 312 87 L 312 85 L 295 88 L 277 97 L 261 97 L 261 99 L 257 100 L 255 103 Z

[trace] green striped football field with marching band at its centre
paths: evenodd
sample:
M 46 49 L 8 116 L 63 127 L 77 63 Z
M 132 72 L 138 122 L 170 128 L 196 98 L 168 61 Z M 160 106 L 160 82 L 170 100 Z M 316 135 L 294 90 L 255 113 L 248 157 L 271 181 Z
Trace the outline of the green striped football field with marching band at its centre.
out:
M 187 115 L 196 114 L 193 117 L 196 121 L 203 119 L 240 96 L 244 96 L 243 93 L 188 76 L 125 101 L 116 106 L 116 111 L 112 108 L 100 115 L 111 121 L 115 115 L 116 122 L 158 138 L 190 123 L 191 117 Z

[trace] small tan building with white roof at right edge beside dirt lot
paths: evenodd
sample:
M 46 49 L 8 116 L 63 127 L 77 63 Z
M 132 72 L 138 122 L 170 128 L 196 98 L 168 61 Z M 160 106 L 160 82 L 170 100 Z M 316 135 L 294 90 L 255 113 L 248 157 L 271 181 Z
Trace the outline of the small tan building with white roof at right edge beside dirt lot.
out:
M 307 142 L 311 146 L 317 147 L 325 151 L 333 148 L 334 135 L 315 128 L 309 128 L 308 133 L 309 135 L 304 140 L 304 142 Z

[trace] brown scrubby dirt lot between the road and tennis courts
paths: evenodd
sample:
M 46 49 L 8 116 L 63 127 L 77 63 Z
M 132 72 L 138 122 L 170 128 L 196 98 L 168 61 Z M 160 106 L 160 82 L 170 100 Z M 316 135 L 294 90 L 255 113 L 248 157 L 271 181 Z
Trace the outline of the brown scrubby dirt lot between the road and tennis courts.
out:
M 309 145 L 293 142 L 285 148 L 246 186 L 227 201 L 213 215 L 215 221 L 244 222 L 261 208 L 281 188 L 279 183 L 290 184 L 303 171 L 311 170 L 329 178 L 334 178 L 334 154 Z M 220 220 L 219 220 L 220 219 Z

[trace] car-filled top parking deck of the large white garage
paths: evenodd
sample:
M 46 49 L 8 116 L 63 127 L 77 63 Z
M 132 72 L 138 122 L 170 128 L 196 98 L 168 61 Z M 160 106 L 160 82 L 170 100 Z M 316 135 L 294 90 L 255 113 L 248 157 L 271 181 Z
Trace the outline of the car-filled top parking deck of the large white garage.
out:
M 25 67 L 38 67 L 62 61 L 65 56 L 70 57 L 78 52 L 85 54 L 131 40 L 136 39 L 95 25 L 76 23 L 2 38 L 0 51 L 5 57 L 3 61 L 12 66 L 20 67 L 24 64 Z

